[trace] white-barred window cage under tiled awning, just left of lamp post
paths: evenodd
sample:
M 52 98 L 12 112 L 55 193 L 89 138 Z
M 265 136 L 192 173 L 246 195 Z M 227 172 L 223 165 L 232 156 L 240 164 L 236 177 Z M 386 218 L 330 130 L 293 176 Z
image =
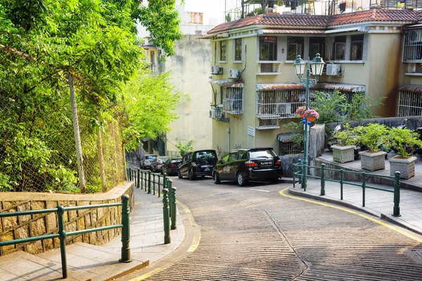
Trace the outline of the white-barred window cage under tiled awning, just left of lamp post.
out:
M 257 91 L 257 117 L 281 119 L 295 117 L 296 108 L 305 104 L 305 89 Z

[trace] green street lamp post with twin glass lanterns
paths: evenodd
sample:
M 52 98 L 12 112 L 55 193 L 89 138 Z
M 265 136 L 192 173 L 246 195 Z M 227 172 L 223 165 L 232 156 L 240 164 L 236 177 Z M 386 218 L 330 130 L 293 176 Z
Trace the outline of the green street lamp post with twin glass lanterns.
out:
M 316 82 L 318 81 L 319 75 L 322 74 L 322 70 L 324 69 L 324 60 L 319 56 L 319 53 L 316 54 L 315 58 L 310 62 L 309 60 L 305 62 L 300 58 L 300 55 L 298 55 L 298 58 L 296 58 L 295 63 L 293 63 L 295 66 L 295 72 L 296 75 L 298 75 L 300 79 L 300 83 L 302 83 L 303 86 L 306 88 L 305 92 L 305 109 L 309 109 L 309 88 L 312 87 Z M 309 76 L 311 74 L 315 76 L 315 79 L 310 79 Z M 306 78 L 302 78 L 303 74 L 305 74 L 306 70 Z M 303 117 L 302 122 L 304 124 L 305 129 L 305 135 L 304 135 L 304 141 L 303 141 L 303 159 L 302 159 L 302 188 L 306 190 L 306 180 L 307 180 L 307 159 L 308 159 L 308 130 L 311 122 L 308 122 L 305 117 Z

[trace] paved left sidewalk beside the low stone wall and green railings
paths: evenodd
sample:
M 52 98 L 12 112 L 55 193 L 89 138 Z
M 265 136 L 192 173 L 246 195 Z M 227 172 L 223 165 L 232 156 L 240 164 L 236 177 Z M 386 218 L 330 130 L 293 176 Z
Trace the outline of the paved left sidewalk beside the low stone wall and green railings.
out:
M 120 263 L 122 242 L 113 241 L 94 246 L 77 242 L 66 247 L 68 279 L 113 280 L 148 266 L 177 249 L 184 240 L 184 226 L 177 214 L 177 230 L 171 230 L 171 244 L 164 244 L 162 197 L 135 188 L 135 204 L 130 215 L 130 263 Z M 60 249 L 34 256 L 24 251 L 0 257 L 0 280 L 60 280 Z

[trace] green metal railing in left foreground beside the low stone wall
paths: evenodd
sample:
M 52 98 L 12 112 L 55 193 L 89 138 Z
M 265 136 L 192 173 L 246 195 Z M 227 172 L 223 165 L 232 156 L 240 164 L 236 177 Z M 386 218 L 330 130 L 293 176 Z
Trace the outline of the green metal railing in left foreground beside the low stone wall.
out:
M 65 223 L 63 221 L 63 214 L 65 213 L 65 211 L 98 209 L 98 208 L 118 207 L 118 206 L 122 206 L 122 224 L 117 224 L 114 226 L 103 226 L 101 228 L 90 228 L 90 229 L 85 229 L 85 230 L 71 231 L 69 233 L 66 233 L 65 231 Z M 66 237 L 72 236 L 72 235 L 80 235 L 84 233 L 93 233 L 93 232 L 102 231 L 102 230 L 122 228 L 122 258 L 119 259 L 119 261 L 122 263 L 129 263 L 132 261 L 130 257 L 130 247 L 129 247 L 130 230 L 129 230 L 129 196 L 128 195 L 122 196 L 121 203 L 86 205 L 86 206 L 77 206 L 77 207 L 63 207 L 59 205 L 57 208 L 53 208 L 53 209 L 41 209 L 41 210 L 32 210 L 32 211 L 12 211 L 9 213 L 0 214 L 0 218 L 6 218 L 8 216 L 26 216 L 26 215 L 31 215 L 31 214 L 49 214 L 49 213 L 57 213 L 58 233 L 3 241 L 3 242 L 0 242 L 0 247 L 58 237 L 60 240 L 60 254 L 61 254 L 63 278 L 67 278 L 68 277 L 68 263 L 66 261 L 66 244 L 65 244 Z

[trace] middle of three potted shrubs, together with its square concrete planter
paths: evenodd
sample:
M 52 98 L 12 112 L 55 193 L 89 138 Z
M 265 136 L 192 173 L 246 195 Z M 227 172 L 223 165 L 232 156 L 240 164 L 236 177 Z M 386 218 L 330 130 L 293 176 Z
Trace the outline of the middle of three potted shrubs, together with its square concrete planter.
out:
M 387 126 L 381 124 L 368 124 L 354 128 L 357 140 L 368 148 L 359 152 L 362 169 L 369 171 L 385 169 L 387 152 L 381 151 L 381 148 L 387 143 L 388 130 Z

